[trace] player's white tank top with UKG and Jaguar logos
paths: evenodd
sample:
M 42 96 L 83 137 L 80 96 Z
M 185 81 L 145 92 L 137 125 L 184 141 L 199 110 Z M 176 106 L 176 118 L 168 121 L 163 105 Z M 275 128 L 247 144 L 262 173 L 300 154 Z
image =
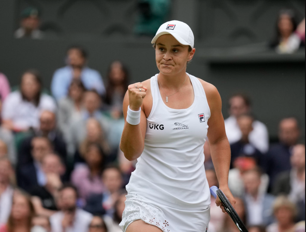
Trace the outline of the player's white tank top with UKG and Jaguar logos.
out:
M 203 210 L 211 203 L 203 164 L 211 114 L 203 86 L 188 74 L 194 102 L 187 109 L 171 109 L 162 101 L 157 75 L 151 77 L 153 104 L 144 151 L 126 189 L 175 208 Z

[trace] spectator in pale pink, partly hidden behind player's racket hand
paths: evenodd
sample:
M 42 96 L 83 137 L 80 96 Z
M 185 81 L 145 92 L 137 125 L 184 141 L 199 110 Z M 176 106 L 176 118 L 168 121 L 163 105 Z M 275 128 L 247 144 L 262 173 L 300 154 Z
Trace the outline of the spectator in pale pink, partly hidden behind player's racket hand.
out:
M 205 168 L 205 174 L 209 187 L 219 186 L 217 175 L 214 169 Z M 211 195 L 211 202 L 214 202 L 215 200 L 215 197 Z M 212 231 L 221 231 L 226 214 L 224 214 L 216 204 L 211 204 L 210 215 L 211 219 L 209 221 L 209 229 Z

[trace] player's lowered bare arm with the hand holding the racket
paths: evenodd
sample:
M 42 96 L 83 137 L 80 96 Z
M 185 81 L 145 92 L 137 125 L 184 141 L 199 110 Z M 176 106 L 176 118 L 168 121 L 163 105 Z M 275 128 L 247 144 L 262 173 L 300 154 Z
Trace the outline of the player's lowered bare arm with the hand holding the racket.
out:
M 207 82 L 202 82 L 206 93 L 207 102 L 211 111 L 211 116 L 207 121 L 208 132 L 207 137 L 210 144 L 211 159 L 217 174 L 219 189 L 226 195 L 230 203 L 234 206 L 234 199 L 228 187 L 228 174 L 230 170 L 230 144 L 226 137 L 224 119 L 221 108 L 222 102 L 220 94 L 215 86 Z M 220 201 L 216 199 L 217 206 L 220 206 Z M 225 208 L 221 205 L 223 212 Z

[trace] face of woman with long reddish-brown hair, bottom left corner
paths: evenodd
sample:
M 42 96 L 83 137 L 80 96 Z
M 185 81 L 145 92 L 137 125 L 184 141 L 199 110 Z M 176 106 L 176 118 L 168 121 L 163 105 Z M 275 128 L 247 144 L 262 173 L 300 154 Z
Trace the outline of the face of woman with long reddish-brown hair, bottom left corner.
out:
M 11 211 L 13 221 L 26 220 L 32 216 L 32 213 L 31 201 L 23 194 L 15 192 Z

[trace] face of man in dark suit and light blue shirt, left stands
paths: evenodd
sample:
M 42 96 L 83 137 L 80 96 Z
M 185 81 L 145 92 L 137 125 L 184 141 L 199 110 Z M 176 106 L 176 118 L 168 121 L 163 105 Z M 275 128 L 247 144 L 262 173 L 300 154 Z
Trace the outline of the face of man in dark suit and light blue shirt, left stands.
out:
M 50 141 L 45 137 L 34 137 L 31 145 L 32 157 L 35 161 L 41 162 L 47 153 L 52 152 Z

